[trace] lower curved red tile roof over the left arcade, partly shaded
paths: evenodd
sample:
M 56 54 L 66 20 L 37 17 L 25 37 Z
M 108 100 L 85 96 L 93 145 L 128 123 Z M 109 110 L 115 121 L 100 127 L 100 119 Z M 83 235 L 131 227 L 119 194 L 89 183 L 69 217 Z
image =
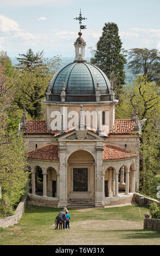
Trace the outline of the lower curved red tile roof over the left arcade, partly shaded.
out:
M 42 148 L 35 149 L 28 153 L 28 158 L 59 161 L 58 158 L 58 146 L 57 145 L 46 145 Z

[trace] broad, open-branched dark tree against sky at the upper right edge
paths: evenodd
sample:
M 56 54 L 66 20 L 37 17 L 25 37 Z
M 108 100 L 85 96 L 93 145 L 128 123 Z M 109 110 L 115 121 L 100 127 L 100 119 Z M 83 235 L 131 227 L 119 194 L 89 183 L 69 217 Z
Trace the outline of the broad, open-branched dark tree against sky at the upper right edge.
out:
M 133 74 L 143 74 L 148 81 L 160 84 L 160 56 L 156 49 L 132 48 L 128 53 L 130 62 L 127 66 Z

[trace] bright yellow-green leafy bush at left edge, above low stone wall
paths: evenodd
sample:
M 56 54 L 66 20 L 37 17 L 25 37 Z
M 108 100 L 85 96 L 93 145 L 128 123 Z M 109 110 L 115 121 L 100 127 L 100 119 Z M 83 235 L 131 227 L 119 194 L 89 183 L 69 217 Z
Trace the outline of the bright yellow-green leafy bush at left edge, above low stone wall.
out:
M 8 134 L 0 129 L 0 186 L 2 198 L 0 201 L 0 217 L 13 213 L 14 206 L 25 193 L 28 172 L 25 152 L 27 144 L 23 138 L 14 133 Z

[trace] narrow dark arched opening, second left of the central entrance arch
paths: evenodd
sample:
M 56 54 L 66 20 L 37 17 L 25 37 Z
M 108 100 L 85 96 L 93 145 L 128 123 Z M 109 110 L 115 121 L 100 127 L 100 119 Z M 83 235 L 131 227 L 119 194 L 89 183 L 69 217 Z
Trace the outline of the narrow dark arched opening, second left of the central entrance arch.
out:
M 35 188 L 37 196 L 43 196 L 43 171 L 40 166 L 35 167 Z

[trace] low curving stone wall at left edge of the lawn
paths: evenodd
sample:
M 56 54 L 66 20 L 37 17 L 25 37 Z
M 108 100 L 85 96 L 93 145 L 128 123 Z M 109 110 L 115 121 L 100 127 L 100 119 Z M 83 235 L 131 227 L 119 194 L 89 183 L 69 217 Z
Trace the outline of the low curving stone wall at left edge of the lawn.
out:
M 25 210 L 25 200 L 27 196 L 24 196 L 22 201 L 18 204 L 15 214 L 6 218 L 0 218 L 0 227 L 7 228 L 11 225 L 18 223 Z

